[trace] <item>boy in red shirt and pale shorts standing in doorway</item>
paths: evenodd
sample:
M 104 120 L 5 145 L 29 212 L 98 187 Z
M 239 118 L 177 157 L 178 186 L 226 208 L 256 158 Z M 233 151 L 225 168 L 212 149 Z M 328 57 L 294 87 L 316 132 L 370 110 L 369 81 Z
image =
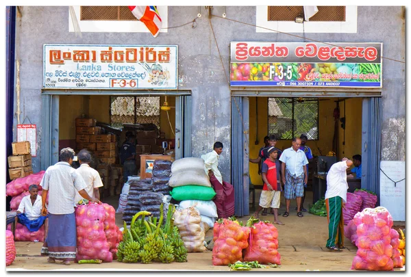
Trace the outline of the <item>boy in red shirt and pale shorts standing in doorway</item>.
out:
M 264 186 L 260 196 L 258 210 L 254 213 L 254 217 L 258 218 L 258 213 L 261 209 L 272 208 L 274 210 L 274 224 L 284 225 L 278 220 L 278 209 L 282 186 L 279 182 L 279 161 L 277 160 L 278 150 L 275 147 L 269 148 L 269 159 L 266 159 L 262 164 L 262 180 Z

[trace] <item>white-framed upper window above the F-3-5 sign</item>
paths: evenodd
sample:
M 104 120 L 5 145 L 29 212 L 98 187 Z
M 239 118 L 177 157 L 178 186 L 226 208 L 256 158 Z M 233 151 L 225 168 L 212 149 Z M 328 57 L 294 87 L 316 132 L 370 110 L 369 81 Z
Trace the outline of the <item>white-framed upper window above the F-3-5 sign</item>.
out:
M 256 25 L 286 33 L 356 33 L 357 6 L 317 6 L 319 12 L 304 21 L 295 23 L 296 17 L 303 17 L 303 6 L 257 6 Z M 268 29 L 256 27 L 258 33 L 271 33 Z

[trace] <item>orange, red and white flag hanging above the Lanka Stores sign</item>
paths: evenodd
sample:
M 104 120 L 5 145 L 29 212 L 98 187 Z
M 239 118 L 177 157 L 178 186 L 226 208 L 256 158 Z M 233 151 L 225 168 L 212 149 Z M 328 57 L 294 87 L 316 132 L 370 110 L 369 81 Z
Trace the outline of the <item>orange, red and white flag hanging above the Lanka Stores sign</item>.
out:
M 144 23 L 154 36 L 158 35 L 162 21 L 155 5 L 129 5 L 128 8 L 136 18 Z

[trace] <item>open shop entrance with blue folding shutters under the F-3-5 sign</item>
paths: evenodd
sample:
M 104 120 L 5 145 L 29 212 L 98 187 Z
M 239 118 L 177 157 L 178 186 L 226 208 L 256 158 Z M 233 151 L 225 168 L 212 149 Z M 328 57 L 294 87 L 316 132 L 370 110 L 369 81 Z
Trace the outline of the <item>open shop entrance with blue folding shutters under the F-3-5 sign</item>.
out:
M 265 92 L 263 96 L 233 96 L 232 102 L 240 103 L 232 105 L 232 182 L 237 187 L 237 216 L 251 213 L 249 203 L 254 197 L 253 206 L 258 207 L 258 192 L 263 182 L 258 164 L 249 163 L 249 158 L 258 157 L 266 135 L 277 137 L 275 147 L 280 150 L 291 147 L 292 137 L 301 134 L 308 137 L 306 145 L 312 150 L 314 159 L 309 163 L 308 191 L 312 191 L 312 198 L 306 198 L 306 209 L 313 200 L 323 197 L 325 187 L 323 185 L 321 191 L 318 177 L 331 166 L 333 159 L 340 161 L 343 157 L 353 159 L 353 155 L 361 155 L 362 176 L 356 179 L 353 174 L 353 179 L 349 179 L 350 189 L 362 187 L 379 194 L 380 98 L 353 95 L 284 97 L 284 94 L 281 97 Z M 238 137 L 242 137 L 241 146 L 234 148 Z M 236 151 L 241 151 L 242 155 Z M 326 157 L 333 153 L 335 157 Z M 330 163 L 329 166 L 324 162 Z M 325 166 L 324 170 L 321 166 Z

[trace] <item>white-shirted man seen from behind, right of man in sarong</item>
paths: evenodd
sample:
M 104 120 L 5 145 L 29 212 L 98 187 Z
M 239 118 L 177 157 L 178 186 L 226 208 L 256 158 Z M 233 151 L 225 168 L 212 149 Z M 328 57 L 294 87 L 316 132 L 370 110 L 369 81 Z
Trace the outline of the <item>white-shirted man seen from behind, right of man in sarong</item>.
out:
M 95 197 L 100 200 L 100 192 L 99 187 L 103 187 L 103 182 L 101 182 L 101 177 L 99 172 L 94 168 L 90 168 L 89 163 L 91 162 L 91 155 L 90 152 L 86 149 L 80 150 L 79 154 L 77 155 L 77 159 L 79 159 L 80 167 L 77 168 L 77 173 L 83 177 L 84 181 L 86 182 L 86 192 L 89 196 Z M 77 204 L 79 200 L 82 200 L 83 197 L 79 194 L 79 192 L 75 192 L 75 199 L 74 202 Z

